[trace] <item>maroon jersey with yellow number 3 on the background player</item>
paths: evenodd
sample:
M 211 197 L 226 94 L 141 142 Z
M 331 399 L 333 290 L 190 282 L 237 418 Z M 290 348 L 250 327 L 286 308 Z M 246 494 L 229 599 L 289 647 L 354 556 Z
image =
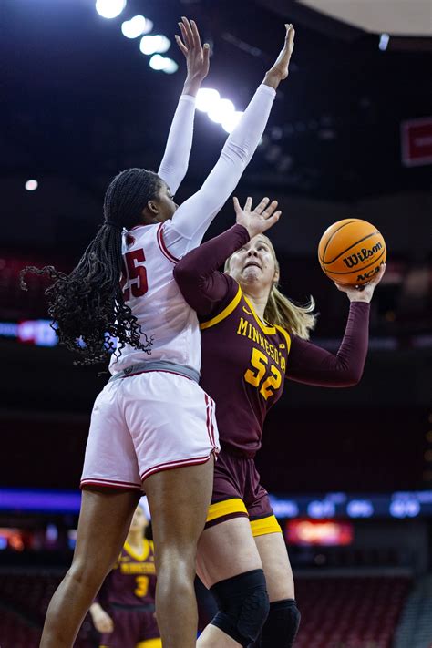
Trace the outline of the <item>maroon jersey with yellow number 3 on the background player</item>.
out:
M 118 561 L 108 574 L 98 598 L 105 604 L 147 605 L 154 604 L 155 590 L 153 542 L 143 539 L 140 553 L 125 542 Z

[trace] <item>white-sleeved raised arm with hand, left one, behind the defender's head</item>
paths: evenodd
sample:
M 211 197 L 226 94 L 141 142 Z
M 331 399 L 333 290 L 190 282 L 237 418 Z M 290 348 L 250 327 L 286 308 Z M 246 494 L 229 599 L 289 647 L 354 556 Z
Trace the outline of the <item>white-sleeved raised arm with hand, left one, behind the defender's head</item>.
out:
M 201 83 L 209 72 L 210 48 L 207 43 L 201 46 L 200 34 L 195 22 L 183 17 L 179 23 L 181 36 L 176 34 L 176 41 L 186 58 L 187 77 L 179 104 L 172 119 L 167 146 L 158 174 L 175 194 L 181 180 L 186 175 L 189 165 L 190 149 L 193 138 L 193 119 L 195 116 L 195 98 Z

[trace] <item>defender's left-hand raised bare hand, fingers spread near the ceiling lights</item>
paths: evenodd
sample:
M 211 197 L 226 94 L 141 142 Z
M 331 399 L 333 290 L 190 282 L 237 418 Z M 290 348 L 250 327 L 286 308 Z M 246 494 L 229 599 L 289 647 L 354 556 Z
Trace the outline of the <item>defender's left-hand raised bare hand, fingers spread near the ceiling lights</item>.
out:
M 191 89 L 196 94 L 201 86 L 201 82 L 209 74 L 210 46 L 208 43 L 204 43 L 204 46 L 201 46 L 200 33 L 195 21 L 191 20 L 189 22 L 188 18 L 183 16 L 179 26 L 181 37 L 176 34 L 176 41 L 180 47 L 180 51 L 186 58 L 186 66 L 188 68 L 185 86 L 192 86 Z

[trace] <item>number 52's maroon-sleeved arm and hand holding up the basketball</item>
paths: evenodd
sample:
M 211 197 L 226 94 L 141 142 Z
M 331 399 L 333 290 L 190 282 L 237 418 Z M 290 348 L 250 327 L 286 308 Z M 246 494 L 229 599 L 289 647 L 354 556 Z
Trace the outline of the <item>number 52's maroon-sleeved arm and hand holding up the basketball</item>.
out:
M 369 343 L 369 303 L 384 272 L 385 266 L 361 293 L 336 283 L 351 302 L 344 339 L 337 354 L 294 335 L 286 367 L 288 378 L 321 387 L 350 387 L 360 381 Z

